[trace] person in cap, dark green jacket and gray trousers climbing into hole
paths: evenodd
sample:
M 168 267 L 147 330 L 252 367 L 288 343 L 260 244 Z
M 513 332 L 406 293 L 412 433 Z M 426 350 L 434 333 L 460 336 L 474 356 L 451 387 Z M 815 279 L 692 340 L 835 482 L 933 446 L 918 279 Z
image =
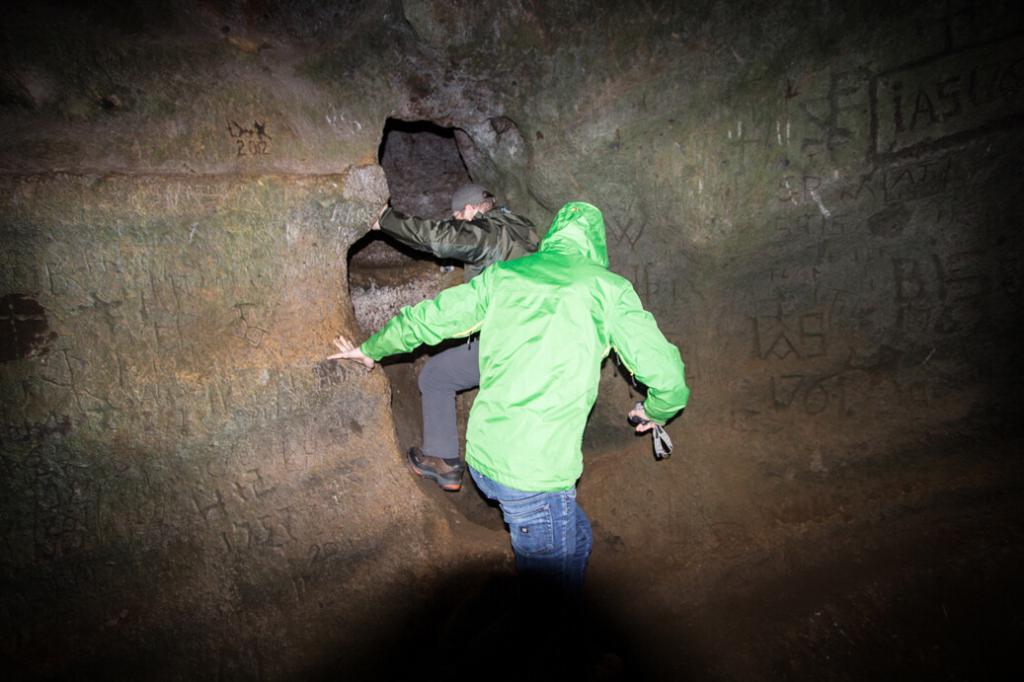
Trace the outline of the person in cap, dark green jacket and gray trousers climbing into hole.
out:
M 385 211 L 374 229 L 438 258 L 466 264 L 468 282 L 492 263 L 537 251 L 534 223 L 505 207 L 478 184 L 466 184 L 452 196 L 452 218 L 430 220 Z M 473 340 L 443 350 L 427 360 L 419 376 L 423 442 L 409 451 L 409 463 L 441 488 L 457 492 L 465 471 L 459 459 L 455 396 L 480 384 L 479 346 Z

